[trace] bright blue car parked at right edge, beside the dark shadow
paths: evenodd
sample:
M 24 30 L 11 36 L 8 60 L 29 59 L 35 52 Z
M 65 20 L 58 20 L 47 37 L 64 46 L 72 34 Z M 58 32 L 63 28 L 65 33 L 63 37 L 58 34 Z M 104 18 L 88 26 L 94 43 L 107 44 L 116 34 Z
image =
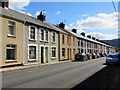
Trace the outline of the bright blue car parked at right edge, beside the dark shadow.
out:
M 119 54 L 109 54 L 106 58 L 106 64 L 119 64 L 120 63 L 120 56 Z

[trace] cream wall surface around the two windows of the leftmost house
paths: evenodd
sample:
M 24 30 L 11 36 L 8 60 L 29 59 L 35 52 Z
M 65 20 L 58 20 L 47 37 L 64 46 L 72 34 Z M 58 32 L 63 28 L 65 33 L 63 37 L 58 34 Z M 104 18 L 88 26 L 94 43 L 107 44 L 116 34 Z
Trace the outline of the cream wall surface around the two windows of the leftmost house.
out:
M 16 65 L 23 63 L 23 24 L 22 22 L 8 19 L 2 19 L 2 63 L 0 66 L 7 65 Z M 15 23 L 15 37 L 8 36 L 8 21 L 12 21 Z M 0 30 L 1 31 L 1 30 Z M 6 46 L 8 44 L 16 45 L 16 61 L 7 61 L 6 62 Z

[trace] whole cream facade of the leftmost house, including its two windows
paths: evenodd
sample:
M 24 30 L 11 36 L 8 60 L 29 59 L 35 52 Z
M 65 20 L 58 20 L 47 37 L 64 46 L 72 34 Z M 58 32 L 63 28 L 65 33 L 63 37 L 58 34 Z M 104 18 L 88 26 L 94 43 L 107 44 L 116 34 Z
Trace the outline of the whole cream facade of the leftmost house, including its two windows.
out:
M 23 23 L 9 17 L 0 17 L 1 60 L 0 67 L 23 63 Z

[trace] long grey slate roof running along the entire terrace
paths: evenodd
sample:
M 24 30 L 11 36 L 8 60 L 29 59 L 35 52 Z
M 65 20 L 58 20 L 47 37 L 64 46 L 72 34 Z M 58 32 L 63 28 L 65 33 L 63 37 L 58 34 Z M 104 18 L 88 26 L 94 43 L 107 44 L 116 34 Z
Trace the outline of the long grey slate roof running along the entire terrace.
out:
M 64 33 L 64 34 L 69 34 L 71 36 L 75 36 L 75 37 L 78 37 L 78 38 L 83 38 L 83 39 L 86 39 L 88 41 L 92 41 L 92 42 L 95 42 L 95 43 L 100 43 L 100 44 L 109 46 L 105 43 L 101 43 L 101 42 L 89 39 L 89 38 L 84 37 L 82 35 L 77 35 L 72 31 L 62 29 L 62 28 L 60 28 L 58 26 L 55 26 L 53 24 L 50 24 L 50 23 L 47 23 L 47 22 L 42 22 L 42 21 L 40 21 L 40 20 L 38 20 L 34 17 L 31 17 L 29 15 L 20 13 L 20 12 L 15 11 L 15 10 L 5 9 L 5 8 L 0 7 L 0 16 L 5 16 L 5 17 L 16 19 L 16 20 L 20 20 L 20 21 L 23 21 L 23 22 L 36 24 L 36 25 L 39 25 L 39 26 L 42 26 L 42 27 L 45 27 L 45 28 L 49 28 L 49 29 L 52 29 L 52 30 L 55 30 L 55 31 L 58 31 L 58 32 L 61 32 L 61 33 Z

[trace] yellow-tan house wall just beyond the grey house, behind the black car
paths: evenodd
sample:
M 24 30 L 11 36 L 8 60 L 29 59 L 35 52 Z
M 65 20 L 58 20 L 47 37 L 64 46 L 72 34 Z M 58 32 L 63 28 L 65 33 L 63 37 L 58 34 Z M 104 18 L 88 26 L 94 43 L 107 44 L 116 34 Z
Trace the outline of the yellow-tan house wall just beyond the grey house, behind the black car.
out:
M 64 44 L 62 40 L 63 35 L 64 35 Z M 68 37 L 70 38 L 69 41 L 68 41 Z M 75 38 L 74 41 L 73 41 L 73 38 Z M 60 60 L 73 60 L 74 59 L 74 55 L 77 52 L 76 41 L 77 41 L 76 37 L 60 33 Z M 62 56 L 63 48 L 65 49 L 65 57 Z M 75 53 L 73 54 L 74 50 L 75 50 Z

